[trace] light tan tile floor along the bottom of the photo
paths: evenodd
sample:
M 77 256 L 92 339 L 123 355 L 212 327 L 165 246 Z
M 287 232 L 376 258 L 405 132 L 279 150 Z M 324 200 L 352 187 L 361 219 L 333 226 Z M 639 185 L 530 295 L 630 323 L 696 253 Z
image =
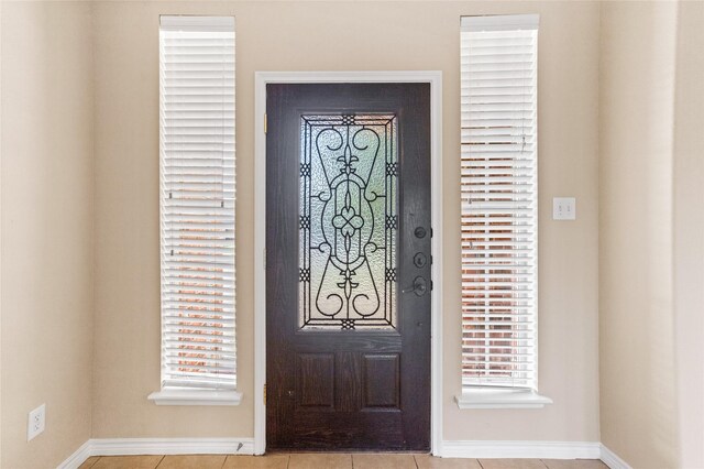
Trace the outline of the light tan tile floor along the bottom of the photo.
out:
M 453 459 L 409 454 L 94 456 L 79 469 L 608 469 L 592 459 Z

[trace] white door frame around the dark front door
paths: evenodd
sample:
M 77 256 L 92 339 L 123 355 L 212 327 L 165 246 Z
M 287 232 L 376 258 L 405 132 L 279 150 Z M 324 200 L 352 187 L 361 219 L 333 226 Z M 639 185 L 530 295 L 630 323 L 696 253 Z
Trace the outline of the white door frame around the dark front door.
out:
M 266 449 L 266 85 L 329 83 L 430 84 L 430 450 L 442 444 L 442 72 L 255 72 L 254 74 L 254 454 Z

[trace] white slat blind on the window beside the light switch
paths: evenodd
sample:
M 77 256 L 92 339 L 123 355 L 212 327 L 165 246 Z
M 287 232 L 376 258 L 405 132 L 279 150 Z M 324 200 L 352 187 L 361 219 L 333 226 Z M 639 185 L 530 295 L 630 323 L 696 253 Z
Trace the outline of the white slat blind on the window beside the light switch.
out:
M 465 389 L 537 389 L 537 15 L 462 18 Z

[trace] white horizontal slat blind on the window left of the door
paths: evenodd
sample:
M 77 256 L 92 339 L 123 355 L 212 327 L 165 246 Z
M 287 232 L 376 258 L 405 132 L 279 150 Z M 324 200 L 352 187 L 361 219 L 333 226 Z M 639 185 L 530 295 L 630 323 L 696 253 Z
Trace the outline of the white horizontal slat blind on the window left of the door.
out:
M 234 19 L 162 17 L 162 386 L 234 390 Z

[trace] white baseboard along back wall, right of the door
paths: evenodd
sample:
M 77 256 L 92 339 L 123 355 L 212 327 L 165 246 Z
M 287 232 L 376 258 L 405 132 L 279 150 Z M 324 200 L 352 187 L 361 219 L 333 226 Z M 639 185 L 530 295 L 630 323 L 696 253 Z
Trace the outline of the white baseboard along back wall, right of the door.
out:
M 444 458 L 598 459 L 598 441 L 490 441 L 444 440 L 438 456 Z

